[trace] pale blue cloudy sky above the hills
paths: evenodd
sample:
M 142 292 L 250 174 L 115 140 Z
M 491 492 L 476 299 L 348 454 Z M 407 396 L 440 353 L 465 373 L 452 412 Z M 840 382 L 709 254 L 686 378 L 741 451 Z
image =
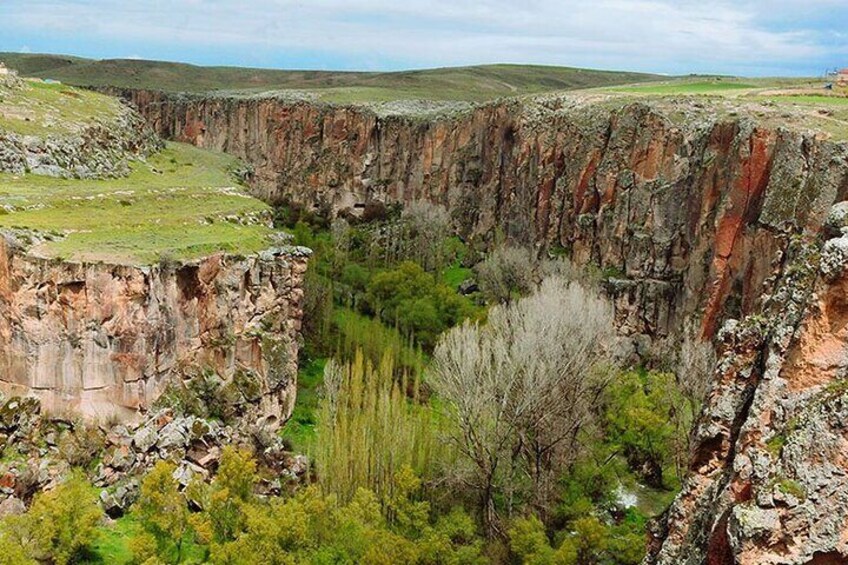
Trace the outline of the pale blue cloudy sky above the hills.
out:
M 0 51 L 284 69 L 818 76 L 848 0 L 0 0 Z

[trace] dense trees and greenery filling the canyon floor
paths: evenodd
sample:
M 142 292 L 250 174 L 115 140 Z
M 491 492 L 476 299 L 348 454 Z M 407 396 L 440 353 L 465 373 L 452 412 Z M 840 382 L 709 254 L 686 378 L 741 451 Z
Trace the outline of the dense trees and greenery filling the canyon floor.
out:
M 4 563 L 640 561 L 703 391 L 626 367 L 599 272 L 481 253 L 427 205 L 277 220 L 315 250 L 282 430 L 314 482 L 258 496 L 228 448 L 210 483 L 158 463 L 103 525 L 75 474 L 2 522 Z

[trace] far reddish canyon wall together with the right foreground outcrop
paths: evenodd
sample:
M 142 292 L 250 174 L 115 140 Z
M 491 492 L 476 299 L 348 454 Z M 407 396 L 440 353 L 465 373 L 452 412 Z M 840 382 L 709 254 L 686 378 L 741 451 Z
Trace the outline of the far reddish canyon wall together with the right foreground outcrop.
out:
M 628 334 L 697 325 L 723 356 L 648 561 L 848 560 L 845 206 L 828 219 L 848 198 L 844 144 L 691 100 L 421 118 L 123 95 L 163 136 L 247 160 L 266 200 L 442 203 L 469 238 L 500 230 L 615 273 Z

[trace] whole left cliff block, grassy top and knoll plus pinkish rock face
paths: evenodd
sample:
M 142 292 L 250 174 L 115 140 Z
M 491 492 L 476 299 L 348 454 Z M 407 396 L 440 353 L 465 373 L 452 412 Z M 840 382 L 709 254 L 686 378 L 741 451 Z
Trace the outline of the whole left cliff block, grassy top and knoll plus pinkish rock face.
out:
M 166 148 L 110 97 L 0 87 L 0 395 L 129 424 L 208 373 L 279 427 L 309 250 L 239 192 L 234 160 Z

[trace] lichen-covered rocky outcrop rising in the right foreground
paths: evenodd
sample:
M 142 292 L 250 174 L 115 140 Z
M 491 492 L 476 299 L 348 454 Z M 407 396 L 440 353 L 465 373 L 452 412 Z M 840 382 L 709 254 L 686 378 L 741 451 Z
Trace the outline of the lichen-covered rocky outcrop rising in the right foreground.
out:
M 761 314 L 720 333 L 692 472 L 650 562 L 848 560 L 848 257 L 844 236 L 823 240 L 795 237 Z

